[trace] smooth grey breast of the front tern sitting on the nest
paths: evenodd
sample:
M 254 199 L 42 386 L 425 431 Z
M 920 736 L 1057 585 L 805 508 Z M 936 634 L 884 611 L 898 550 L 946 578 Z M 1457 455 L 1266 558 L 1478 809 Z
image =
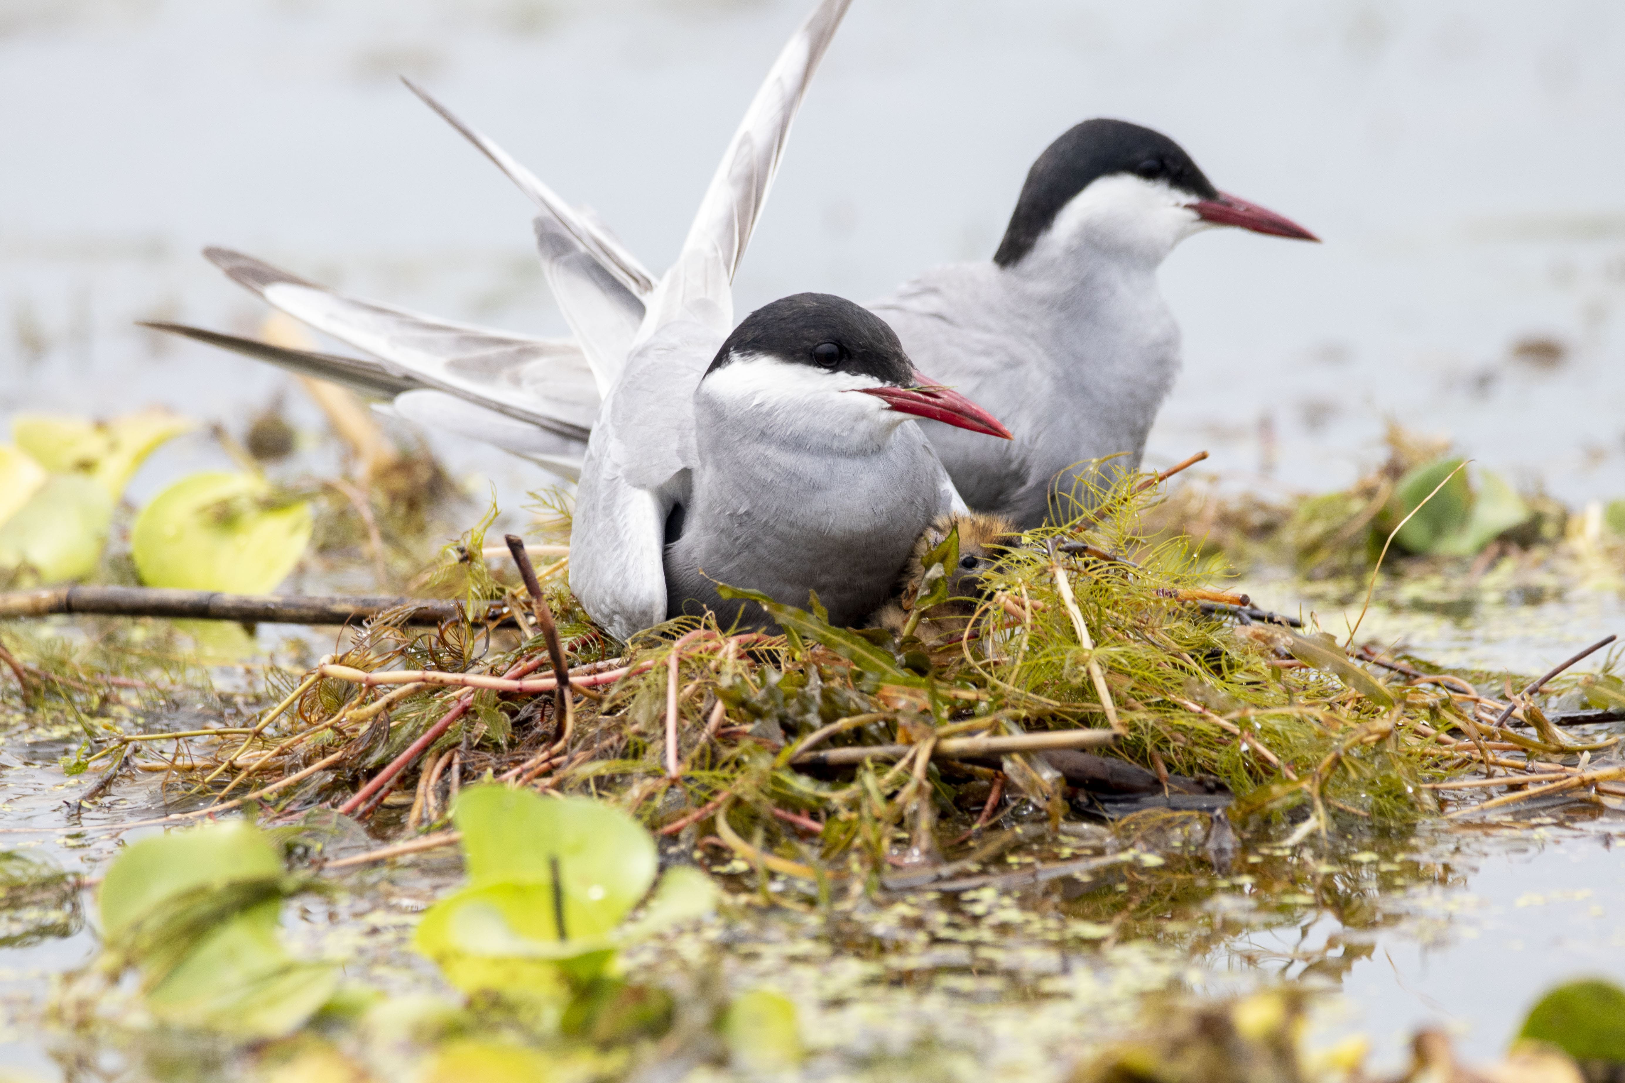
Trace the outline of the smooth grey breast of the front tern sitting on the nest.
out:
M 725 625 L 765 625 L 759 607 L 717 593 L 725 583 L 801 609 L 816 593 L 832 623 L 860 623 L 944 510 L 942 468 L 912 422 L 868 455 L 723 437 L 705 448 L 682 536 L 666 547 L 668 615 L 713 609 Z

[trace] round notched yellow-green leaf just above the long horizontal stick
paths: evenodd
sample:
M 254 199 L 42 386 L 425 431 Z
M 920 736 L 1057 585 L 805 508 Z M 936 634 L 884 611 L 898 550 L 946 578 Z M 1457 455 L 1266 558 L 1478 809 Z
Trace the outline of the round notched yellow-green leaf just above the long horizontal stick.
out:
M 141 510 L 130 555 L 148 586 L 263 594 L 310 542 L 310 507 L 275 503 L 254 474 L 184 477 Z

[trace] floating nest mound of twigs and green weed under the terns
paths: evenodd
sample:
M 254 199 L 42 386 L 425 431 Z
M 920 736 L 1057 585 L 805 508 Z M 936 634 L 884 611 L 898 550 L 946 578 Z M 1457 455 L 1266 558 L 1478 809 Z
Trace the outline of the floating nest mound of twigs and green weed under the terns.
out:
M 481 524 L 447 568 L 465 612 L 502 620 L 424 630 L 380 614 L 306 672 L 268 669 L 270 706 L 221 705 L 224 726 L 179 729 L 197 671 L 154 677 L 164 654 L 117 636 L 13 636 L 28 661 L 8 658 L 29 724 L 83 731 L 63 760 L 101 771 L 86 799 L 158 771 L 176 818 L 338 809 L 392 843 L 377 857 L 453 841 L 437 828 L 479 779 L 592 794 L 661 836 L 822 883 L 946 867 L 993 828 L 1162 809 L 1199 817 L 1209 846 L 1230 826 L 1331 844 L 1435 817 L 1441 794 L 1498 794 L 1459 815 L 1606 794 L 1620 776 L 1573 760 L 1612 740 L 1571 742 L 1575 719 L 1544 714 L 1539 685 L 1506 697 L 1505 674 L 1350 651 L 1216 589 L 1219 567 L 1186 537 L 1149 541 L 1147 481 L 1001 537 L 957 604 L 951 531 L 920 554 L 890 628 L 830 627 L 816 598 L 759 599 L 775 635 L 684 619 L 616 643 L 564 586 L 567 557 L 526 575 L 533 591 L 468 559 Z M 1625 705 L 1612 679 L 1584 680 L 1599 706 Z M 154 708 L 171 729 L 143 729 Z

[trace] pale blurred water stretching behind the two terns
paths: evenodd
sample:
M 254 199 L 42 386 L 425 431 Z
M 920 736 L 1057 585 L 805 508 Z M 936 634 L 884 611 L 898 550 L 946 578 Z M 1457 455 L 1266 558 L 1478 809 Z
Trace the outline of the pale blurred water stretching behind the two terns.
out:
M 136 318 L 252 331 L 198 255 L 562 331 L 528 205 L 410 75 L 652 266 L 801 0 L 0 2 L 0 414 L 167 403 L 239 427 L 294 385 Z M 738 281 L 874 297 L 986 258 L 1034 156 L 1092 115 L 1175 136 L 1324 245 L 1217 231 L 1164 284 L 1185 375 L 1150 440 L 1347 484 L 1393 417 L 1578 502 L 1625 490 L 1625 11 L 1336 0 L 860 0 Z M 505 492 L 528 468 L 437 443 Z M 180 442 L 138 481 L 141 498 Z

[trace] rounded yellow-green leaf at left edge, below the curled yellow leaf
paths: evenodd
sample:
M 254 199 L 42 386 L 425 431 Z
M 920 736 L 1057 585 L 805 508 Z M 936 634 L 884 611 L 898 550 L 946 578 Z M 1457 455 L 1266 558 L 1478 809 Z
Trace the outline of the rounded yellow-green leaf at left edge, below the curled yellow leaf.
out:
M 84 474 L 55 474 L 0 526 L 0 568 L 32 568 L 41 583 L 80 580 L 96 570 L 114 500 Z

